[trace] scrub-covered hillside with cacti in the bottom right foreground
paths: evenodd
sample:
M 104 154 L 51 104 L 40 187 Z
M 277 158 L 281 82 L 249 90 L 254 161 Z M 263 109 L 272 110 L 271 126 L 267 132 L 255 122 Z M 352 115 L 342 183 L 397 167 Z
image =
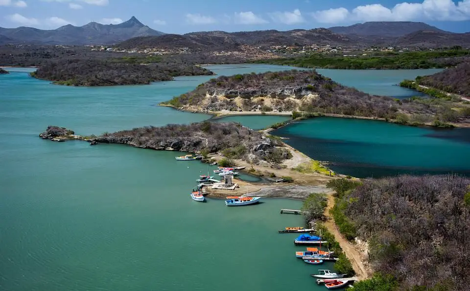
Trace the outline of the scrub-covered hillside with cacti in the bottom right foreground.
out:
M 358 290 L 468 290 L 470 179 L 400 176 L 365 180 L 352 191 L 346 191 L 356 186 L 351 181 L 334 183 L 332 214 L 340 231 L 367 240 L 375 271 L 399 284 Z

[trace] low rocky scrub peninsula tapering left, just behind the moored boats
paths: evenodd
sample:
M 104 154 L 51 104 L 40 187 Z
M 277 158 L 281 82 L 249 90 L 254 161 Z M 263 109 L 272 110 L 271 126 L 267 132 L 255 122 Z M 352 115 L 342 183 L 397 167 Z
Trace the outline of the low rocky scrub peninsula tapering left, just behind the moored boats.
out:
M 146 126 L 87 138 L 74 135 L 73 131 L 66 128 L 48 126 L 39 136 L 44 139 L 86 139 L 93 144 L 120 143 L 153 150 L 222 152 L 226 157 L 245 159 L 255 164 L 260 160 L 278 164 L 292 157 L 279 140 L 271 139 L 235 122 L 204 121 L 186 125 L 169 124 L 163 127 Z

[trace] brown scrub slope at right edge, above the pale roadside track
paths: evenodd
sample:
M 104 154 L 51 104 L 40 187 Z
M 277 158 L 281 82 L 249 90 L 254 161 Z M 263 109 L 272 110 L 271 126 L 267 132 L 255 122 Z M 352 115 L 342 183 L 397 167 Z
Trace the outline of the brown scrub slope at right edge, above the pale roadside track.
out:
M 470 62 L 419 78 L 420 85 L 470 96 Z

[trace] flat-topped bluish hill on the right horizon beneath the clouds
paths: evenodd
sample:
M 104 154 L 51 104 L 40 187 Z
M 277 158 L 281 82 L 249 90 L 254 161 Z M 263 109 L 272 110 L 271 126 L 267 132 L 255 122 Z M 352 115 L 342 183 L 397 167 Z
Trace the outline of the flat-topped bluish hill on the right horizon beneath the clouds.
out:
M 415 31 L 437 31 L 447 33 L 437 27 L 428 25 L 423 22 L 365 22 L 357 23 L 350 26 L 334 26 L 329 30 L 344 35 L 360 35 L 360 36 L 381 36 L 381 37 L 400 37 Z

